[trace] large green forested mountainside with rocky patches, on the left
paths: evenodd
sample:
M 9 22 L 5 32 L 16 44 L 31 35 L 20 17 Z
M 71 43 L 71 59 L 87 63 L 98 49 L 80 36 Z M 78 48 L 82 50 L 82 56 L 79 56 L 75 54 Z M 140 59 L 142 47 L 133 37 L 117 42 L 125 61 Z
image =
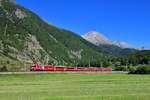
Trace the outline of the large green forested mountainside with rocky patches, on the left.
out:
M 25 71 L 32 64 L 85 66 L 112 56 L 77 34 L 44 22 L 15 0 L 0 0 L 0 22 L 0 67 L 11 71 Z

